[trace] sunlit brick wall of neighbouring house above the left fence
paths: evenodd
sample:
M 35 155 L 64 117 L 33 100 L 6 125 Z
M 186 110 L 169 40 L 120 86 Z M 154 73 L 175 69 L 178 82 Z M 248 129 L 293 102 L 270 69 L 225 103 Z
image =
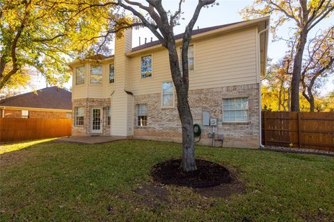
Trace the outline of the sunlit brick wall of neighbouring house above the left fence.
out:
M 4 110 L 5 118 L 21 118 L 22 110 Z M 2 117 L 2 110 L 0 112 Z M 67 112 L 49 112 L 49 111 L 37 111 L 29 110 L 29 118 L 43 118 L 43 119 L 65 119 L 67 118 Z

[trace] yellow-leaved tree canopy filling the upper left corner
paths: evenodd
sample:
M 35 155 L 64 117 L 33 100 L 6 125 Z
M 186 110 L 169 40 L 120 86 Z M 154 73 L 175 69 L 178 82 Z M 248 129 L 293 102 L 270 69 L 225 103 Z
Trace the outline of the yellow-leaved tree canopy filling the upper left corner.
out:
M 78 13 L 80 8 L 79 0 L 0 1 L 0 90 L 29 76 L 24 73 L 29 69 L 49 84 L 68 80 L 68 58 L 87 53 L 100 30 L 109 28 L 100 19 L 107 16 L 106 8 Z

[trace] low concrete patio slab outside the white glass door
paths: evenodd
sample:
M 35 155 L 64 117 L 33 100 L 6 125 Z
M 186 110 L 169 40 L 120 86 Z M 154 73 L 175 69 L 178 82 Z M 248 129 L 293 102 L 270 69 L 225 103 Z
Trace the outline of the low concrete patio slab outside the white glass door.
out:
M 74 144 L 105 144 L 109 142 L 114 142 L 122 139 L 127 139 L 127 137 L 107 137 L 107 136 L 82 136 L 82 137 L 67 137 L 56 139 L 56 143 L 74 143 Z

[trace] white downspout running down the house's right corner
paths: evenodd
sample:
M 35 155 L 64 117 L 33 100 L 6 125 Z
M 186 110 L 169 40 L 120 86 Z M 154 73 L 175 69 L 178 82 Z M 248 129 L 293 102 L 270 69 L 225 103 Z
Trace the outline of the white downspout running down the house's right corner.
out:
M 267 24 L 267 22 L 264 22 L 264 25 L 265 27 L 267 28 L 264 28 L 264 30 L 260 31 L 257 33 L 257 44 L 259 44 L 259 49 L 260 49 L 260 35 L 262 33 L 264 33 L 264 35 L 267 35 L 267 32 L 269 31 L 269 24 Z M 268 37 L 269 35 L 266 36 L 266 44 L 264 44 L 264 75 L 265 75 L 265 72 L 266 72 L 266 67 L 267 67 L 267 49 L 266 49 L 266 46 L 267 46 L 267 42 L 268 42 Z M 261 111 L 262 111 L 262 92 L 261 92 L 261 58 L 260 58 L 260 54 L 261 52 L 259 51 L 259 55 L 258 55 L 258 58 L 259 59 L 259 63 L 260 65 L 258 66 L 258 73 L 257 75 L 260 76 L 260 83 L 259 83 L 259 144 L 260 144 L 260 147 L 259 148 L 264 148 L 264 146 L 262 145 L 262 117 L 261 117 Z

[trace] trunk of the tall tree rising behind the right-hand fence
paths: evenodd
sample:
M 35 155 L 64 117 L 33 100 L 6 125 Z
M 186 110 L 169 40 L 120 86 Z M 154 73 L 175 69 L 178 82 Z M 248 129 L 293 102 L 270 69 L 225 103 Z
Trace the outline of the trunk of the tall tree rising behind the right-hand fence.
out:
M 302 30 L 300 42 L 297 46 L 296 56 L 294 58 L 294 70 L 292 72 L 291 82 L 291 111 L 299 111 L 299 84 L 301 81 L 301 63 L 303 62 L 303 53 L 308 37 L 307 30 Z

